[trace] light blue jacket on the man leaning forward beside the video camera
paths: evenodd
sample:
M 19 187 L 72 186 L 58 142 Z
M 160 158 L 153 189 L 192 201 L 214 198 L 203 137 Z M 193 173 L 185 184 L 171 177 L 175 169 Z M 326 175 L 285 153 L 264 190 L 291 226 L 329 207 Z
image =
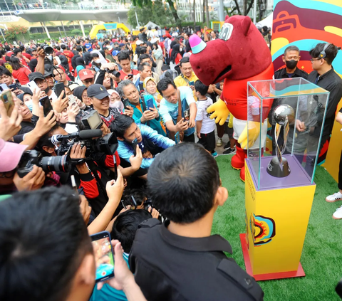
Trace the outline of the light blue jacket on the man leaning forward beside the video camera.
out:
M 150 142 L 153 142 L 162 149 L 167 149 L 168 147 L 172 147 L 173 145 L 175 145 L 175 141 L 167 137 L 164 137 L 161 134 L 158 134 L 155 130 L 152 130 L 150 127 L 147 127 L 147 125 L 142 125 L 141 123 L 137 123 L 137 125 L 140 128 L 142 139 L 148 139 Z M 132 144 L 120 140 L 118 142 L 118 154 L 120 158 L 126 160 L 127 162 L 130 162 L 130 157 L 134 156 Z M 140 167 L 144 169 L 150 167 L 154 159 L 155 158 L 142 159 Z

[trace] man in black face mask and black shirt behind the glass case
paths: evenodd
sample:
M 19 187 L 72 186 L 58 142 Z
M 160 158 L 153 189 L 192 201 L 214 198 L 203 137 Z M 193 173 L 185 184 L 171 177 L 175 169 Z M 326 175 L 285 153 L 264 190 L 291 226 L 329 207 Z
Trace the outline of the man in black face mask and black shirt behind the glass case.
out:
M 308 78 L 308 73 L 297 68 L 297 63 L 301 59 L 299 48 L 297 46 L 287 47 L 284 51 L 284 56 L 282 59 L 286 65 L 286 68 L 276 70 L 274 73 L 274 78 L 276 80 L 279 78 Z

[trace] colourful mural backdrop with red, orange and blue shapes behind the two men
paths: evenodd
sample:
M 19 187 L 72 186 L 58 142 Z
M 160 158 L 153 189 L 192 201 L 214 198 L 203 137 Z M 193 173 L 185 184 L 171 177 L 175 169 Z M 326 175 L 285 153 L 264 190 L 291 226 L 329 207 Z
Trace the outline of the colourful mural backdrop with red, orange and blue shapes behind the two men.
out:
M 271 42 L 274 70 L 285 67 L 281 56 L 286 47 L 297 46 L 301 50 L 301 60 L 297 67 L 311 73 L 309 51 L 316 44 L 326 42 L 342 47 L 342 0 L 274 0 Z M 333 60 L 333 68 L 342 78 L 342 51 L 338 51 Z M 332 136 L 330 142 L 335 144 L 333 140 L 337 138 Z M 325 162 L 328 147 L 327 141 L 319 154 L 318 164 Z M 341 152 L 341 147 L 334 147 L 333 150 L 329 147 L 329 152 L 334 154 L 328 158 L 335 158 L 335 152 Z M 331 162 L 327 162 L 326 169 L 333 174 L 330 166 L 334 167 L 338 162 L 329 160 Z

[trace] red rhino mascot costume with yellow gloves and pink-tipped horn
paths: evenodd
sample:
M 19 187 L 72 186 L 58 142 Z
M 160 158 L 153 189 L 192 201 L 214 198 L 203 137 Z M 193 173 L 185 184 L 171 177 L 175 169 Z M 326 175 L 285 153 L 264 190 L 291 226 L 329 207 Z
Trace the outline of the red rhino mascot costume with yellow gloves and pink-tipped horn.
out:
M 248 16 L 227 16 L 218 39 L 204 43 L 198 36 L 192 35 L 190 46 L 190 63 L 199 80 L 205 85 L 224 80 L 221 99 L 208 107 L 207 112 L 214 112 L 211 118 L 215 118 L 219 125 L 224 125 L 229 112 L 234 115 L 234 139 L 238 143 L 237 153 L 232 157 L 232 167 L 241 169 L 240 178 L 244 181 L 247 144 L 249 148 L 260 146 L 257 139 L 260 127 L 255 125 L 251 130 L 249 125 L 247 135 L 247 82 L 272 78 L 271 53 L 264 37 Z M 262 137 L 265 141 L 267 121 L 264 119 L 270 108 L 271 100 L 263 103 L 261 122 L 264 125 L 261 131 L 264 131 Z

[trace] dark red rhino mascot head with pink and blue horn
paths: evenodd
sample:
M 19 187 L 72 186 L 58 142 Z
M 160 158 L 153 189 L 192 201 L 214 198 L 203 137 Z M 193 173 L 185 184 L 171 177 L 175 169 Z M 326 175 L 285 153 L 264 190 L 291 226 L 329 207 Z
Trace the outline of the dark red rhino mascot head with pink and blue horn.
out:
M 219 38 L 204 43 L 197 35 L 190 37 L 190 63 L 205 85 L 225 78 L 242 80 L 266 70 L 271 53 L 249 16 L 226 17 Z

